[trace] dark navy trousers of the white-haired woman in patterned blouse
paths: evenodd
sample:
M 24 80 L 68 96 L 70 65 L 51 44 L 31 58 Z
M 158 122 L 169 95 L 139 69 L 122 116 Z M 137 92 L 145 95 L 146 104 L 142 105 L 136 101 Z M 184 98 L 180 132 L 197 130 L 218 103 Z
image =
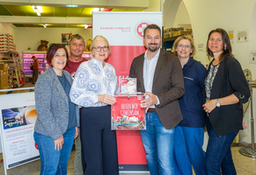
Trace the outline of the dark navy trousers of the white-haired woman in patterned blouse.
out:
M 115 131 L 111 130 L 111 107 L 83 108 L 80 137 L 84 175 L 118 175 Z

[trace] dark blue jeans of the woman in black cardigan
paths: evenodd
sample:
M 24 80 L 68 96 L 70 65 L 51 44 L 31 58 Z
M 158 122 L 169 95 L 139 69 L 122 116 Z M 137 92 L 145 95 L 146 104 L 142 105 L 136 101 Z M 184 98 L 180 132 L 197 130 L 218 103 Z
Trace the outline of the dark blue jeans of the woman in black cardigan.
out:
M 230 145 L 238 132 L 223 137 L 217 137 L 208 118 L 206 120 L 208 130 L 208 146 L 206 151 L 206 172 L 208 175 L 236 175 Z M 221 172 L 222 168 L 222 172 Z

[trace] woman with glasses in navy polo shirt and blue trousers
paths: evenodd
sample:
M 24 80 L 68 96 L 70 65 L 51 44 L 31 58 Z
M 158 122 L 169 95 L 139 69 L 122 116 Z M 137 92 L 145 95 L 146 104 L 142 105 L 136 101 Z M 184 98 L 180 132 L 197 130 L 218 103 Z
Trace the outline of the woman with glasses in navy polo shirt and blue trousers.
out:
M 196 175 L 204 175 L 204 116 L 201 105 L 206 68 L 193 59 L 195 47 L 190 35 L 177 38 L 172 52 L 179 58 L 185 84 L 185 95 L 179 99 L 183 121 L 175 128 L 174 155 L 179 171 L 176 173 L 192 175 L 193 165 Z

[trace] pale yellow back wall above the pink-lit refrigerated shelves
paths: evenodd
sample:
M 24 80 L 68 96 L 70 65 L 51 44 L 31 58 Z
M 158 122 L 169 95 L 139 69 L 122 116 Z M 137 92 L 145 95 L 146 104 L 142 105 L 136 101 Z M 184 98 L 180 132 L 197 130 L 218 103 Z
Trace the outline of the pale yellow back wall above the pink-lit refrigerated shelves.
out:
M 40 40 L 47 40 L 50 43 L 62 43 L 62 33 L 80 34 L 85 38 L 85 42 L 89 38 L 92 39 L 91 28 L 33 28 L 33 27 L 17 27 L 16 29 L 16 45 L 17 51 L 26 51 L 30 46 L 32 51 L 36 51 L 40 45 Z

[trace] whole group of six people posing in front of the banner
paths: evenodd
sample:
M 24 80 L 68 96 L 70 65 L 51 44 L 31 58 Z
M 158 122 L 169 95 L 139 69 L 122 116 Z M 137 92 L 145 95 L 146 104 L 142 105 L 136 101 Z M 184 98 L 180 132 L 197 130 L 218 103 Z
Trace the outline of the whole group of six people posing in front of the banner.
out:
M 129 77 L 137 79 L 137 90 L 145 95 L 141 108 L 146 130 L 140 132 L 150 174 L 192 175 L 192 167 L 196 175 L 236 174 L 230 144 L 243 130 L 243 103 L 250 91 L 227 32 L 209 32 L 208 70 L 193 59 L 191 36 L 177 38 L 171 53 L 160 49 L 157 25 L 148 25 L 143 33 L 147 51 L 133 59 Z M 116 135 L 111 130 L 111 105 L 119 89 L 114 67 L 105 62 L 111 48 L 106 38 L 96 36 L 92 58 L 84 61 L 84 47 L 78 34 L 69 40 L 70 56 L 64 46 L 51 45 L 49 68 L 36 81 L 34 139 L 40 174 L 67 174 L 76 137 L 75 174 L 119 174 Z

